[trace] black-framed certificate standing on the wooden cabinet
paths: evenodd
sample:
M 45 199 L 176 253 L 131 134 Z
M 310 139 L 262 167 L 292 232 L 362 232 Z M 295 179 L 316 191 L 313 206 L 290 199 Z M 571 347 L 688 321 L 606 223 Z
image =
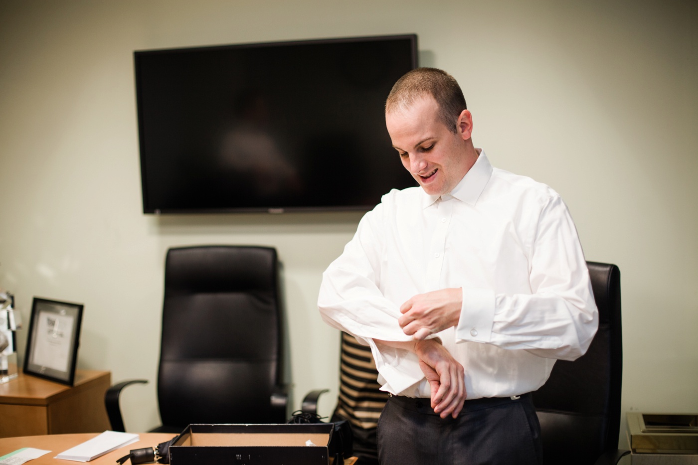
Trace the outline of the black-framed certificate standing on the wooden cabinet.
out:
M 83 304 L 34 297 L 24 373 L 73 385 Z

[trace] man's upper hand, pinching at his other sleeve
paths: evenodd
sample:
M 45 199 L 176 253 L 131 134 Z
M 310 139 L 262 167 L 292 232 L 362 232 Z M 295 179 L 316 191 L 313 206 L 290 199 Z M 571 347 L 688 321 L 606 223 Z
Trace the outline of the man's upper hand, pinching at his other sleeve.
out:
M 421 341 L 429 334 L 457 325 L 462 306 L 461 288 L 417 294 L 400 307 L 402 316 L 398 323 L 405 334 Z

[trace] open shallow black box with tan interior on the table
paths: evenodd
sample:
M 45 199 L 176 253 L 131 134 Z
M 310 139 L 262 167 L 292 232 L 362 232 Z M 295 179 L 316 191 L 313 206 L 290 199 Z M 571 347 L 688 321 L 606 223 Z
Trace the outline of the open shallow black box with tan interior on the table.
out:
M 189 425 L 170 445 L 170 465 L 327 465 L 332 423 Z

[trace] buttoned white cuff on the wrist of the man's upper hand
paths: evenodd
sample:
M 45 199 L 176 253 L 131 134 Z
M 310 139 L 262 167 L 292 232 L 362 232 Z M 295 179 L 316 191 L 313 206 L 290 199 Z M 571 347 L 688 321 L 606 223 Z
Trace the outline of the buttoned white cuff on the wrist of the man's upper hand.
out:
M 456 326 L 456 342 L 489 342 L 494 321 L 494 291 L 463 289 L 461 318 Z

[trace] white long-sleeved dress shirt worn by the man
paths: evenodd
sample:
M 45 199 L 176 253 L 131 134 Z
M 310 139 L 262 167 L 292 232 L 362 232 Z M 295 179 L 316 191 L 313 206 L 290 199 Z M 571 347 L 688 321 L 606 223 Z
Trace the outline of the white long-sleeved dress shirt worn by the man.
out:
M 560 195 L 492 168 L 487 156 L 450 194 L 390 191 L 322 275 L 322 318 L 371 346 L 383 390 L 429 397 L 397 320 L 417 294 L 462 288 L 459 324 L 439 332 L 465 369 L 468 399 L 540 388 L 556 359 L 586 352 L 598 325 L 577 230 Z

